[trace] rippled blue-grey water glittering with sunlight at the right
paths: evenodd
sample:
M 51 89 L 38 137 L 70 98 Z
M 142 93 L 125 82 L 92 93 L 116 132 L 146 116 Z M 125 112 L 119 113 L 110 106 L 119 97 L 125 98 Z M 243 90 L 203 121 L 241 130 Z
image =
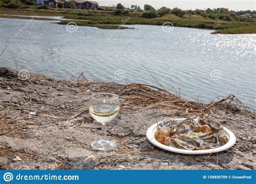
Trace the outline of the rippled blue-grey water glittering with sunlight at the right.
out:
M 81 72 L 88 79 L 147 83 L 179 91 L 188 100 L 211 102 L 234 94 L 255 104 L 256 35 L 212 35 L 210 30 L 132 25 L 136 30 L 79 26 L 70 33 L 50 21 L 0 18 L 0 43 L 10 44 L 2 66 L 15 66 L 57 79 Z M 25 29 L 22 29 L 25 27 Z M 19 31 L 19 32 L 18 32 Z M 18 34 L 17 34 L 18 32 Z M 16 37 L 15 37 L 16 36 Z

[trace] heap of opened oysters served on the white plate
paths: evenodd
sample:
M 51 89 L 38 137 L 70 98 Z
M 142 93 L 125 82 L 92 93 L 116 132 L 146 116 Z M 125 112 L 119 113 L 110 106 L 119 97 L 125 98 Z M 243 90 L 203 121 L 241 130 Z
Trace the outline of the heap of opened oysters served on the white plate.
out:
M 154 138 L 161 144 L 184 150 L 211 149 L 223 146 L 228 141 L 220 123 L 203 119 L 196 122 L 189 118 L 180 123 L 174 119 L 161 122 Z

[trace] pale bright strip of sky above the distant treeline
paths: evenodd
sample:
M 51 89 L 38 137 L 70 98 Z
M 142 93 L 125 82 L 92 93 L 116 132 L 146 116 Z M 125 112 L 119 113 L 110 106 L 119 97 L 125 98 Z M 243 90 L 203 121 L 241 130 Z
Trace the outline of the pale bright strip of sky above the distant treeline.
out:
M 132 4 L 137 4 L 140 8 L 144 7 L 144 4 L 150 4 L 154 8 L 158 9 L 163 6 L 167 8 L 178 7 L 183 10 L 194 10 L 194 9 L 207 9 L 207 8 L 228 8 L 230 10 L 255 10 L 255 1 L 232 1 L 232 0 L 93 0 L 97 1 L 100 6 L 116 5 L 117 3 L 122 3 L 125 7 L 131 6 Z

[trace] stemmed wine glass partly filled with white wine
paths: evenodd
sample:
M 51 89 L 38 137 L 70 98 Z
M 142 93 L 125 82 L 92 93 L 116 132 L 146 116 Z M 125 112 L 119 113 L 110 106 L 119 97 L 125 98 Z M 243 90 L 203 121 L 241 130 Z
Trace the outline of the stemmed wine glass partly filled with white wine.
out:
M 99 123 L 102 123 L 102 139 L 91 143 L 94 150 L 113 150 L 117 143 L 106 139 L 106 124 L 114 119 L 120 110 L 118 96 L 111 93 L 95 93 L 90 96 L 89 112 Z

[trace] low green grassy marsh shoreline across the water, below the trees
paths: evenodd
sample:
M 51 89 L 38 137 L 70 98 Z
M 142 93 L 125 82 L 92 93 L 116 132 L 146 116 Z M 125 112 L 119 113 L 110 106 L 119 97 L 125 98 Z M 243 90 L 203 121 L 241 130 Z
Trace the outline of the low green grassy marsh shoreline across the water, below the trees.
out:
M 37 10 L 16 10 L 15 15 L 12 14 L 13 10 L 10 9 L 0 9 L 0 18 L 13 18 L 13 19 L 31 19 L 32 16 L 35 15 Z M 35 11 L 35 12 L 34 12 Z M 97 16 L 80 16 L 80 15 L 73 15 L 63 12 L 58 12 L 58 10 L 44 10 L 43 12 L 38 11 L 36 16 L 33 17 L 35 20 L 54 20 L 59 21 L 57 24 L 68 24 L 69 22 L 76 23 L 78 26 L 91 26 L 91 27 L 98 27 L 99 29 L 111 29 L 111 30 L 123 30 L 123 29 L 133 29 L 130 27 L 126 27 L 125 25 L 160 25 L 163 26 L 166 22 L 172 23 L 173 27 L 187 27 L 187 28 L 195 28 L 195 29 L 204 29 L 204 30 L 212 30 L 211 34 L 256 34 L 256 23 L 255 22 L 226 22 L 225 28 L 223 29 L 221 26 L 218 27 L 218 30 L 214 30 L 214 27 L 219 24 L 219 22 L 206 22 L 203 20 L 197 21 L 195 23 L 194 20 L 186 20 L 180 19 L 183 21 L 178 21 L 177 19 L 143 19 L 143 20 L 133 20 L 134 17 L 126 16 L 126 19 L 129 18 L 129 21 L 123 23 L 120 20 L 113 20 L 111 18 L 109 20 L 100 20 L 100 17 Z M 79 10 L 74 10 L 79 12 Z M 82 10 L 88 12 L 86 10 Z M 89 11 L 90 12 L 90 11 Z M 4 15 L 3 15 L 4 14 Z M 79 14 L 79 13 L 77 13 Z M 31 17 L 27 17 L 31 16 Z M 43 17 L 39 17 L 43 16 Z M 54 18 L 45 18 L 45 17 L 62 17 L 66 20 L 59 20 Z M 120 16 L 114 16 L 120 17 Z M 123 16 L 125 18 L 125 16 Z M 120 18 L 123 18 L 120 17 Z M 137 18 L 134 18 L 137 19 Z M 207 24 L 206 24 L 207 23 Z M 205 25 L 206 24 L 206 25 Z M 212 25 L 213 24 L 213 25 Z M 237 24 L 237 25 L 233 25 Z

